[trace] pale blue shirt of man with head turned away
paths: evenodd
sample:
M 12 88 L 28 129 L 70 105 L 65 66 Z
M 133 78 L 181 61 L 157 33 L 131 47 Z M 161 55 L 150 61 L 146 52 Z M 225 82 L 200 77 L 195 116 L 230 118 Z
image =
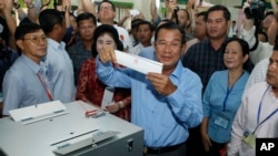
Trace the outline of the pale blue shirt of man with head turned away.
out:
M 75 100 L 76 91 L 73 66 L 64 46 L 63 42 L 58 43 L 52 39 L 48 39 L 46 63 L 52 70 L 53 98 L 60 100 L 62 103 L 69 103 Z

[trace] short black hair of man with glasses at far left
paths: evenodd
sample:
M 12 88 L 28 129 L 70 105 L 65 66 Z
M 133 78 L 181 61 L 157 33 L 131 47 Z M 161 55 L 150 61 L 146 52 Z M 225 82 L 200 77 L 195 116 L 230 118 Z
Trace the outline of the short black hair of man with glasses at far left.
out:
M 22 23 L 17 27 L 16 32 L 14 32 L 14 39 L 16 41 L 21 40 L 24 38 L 27 33 L 37 32 L 39 30 L 42 30 L 42 28 L 37 23 L 32 23 L 32 22 Z

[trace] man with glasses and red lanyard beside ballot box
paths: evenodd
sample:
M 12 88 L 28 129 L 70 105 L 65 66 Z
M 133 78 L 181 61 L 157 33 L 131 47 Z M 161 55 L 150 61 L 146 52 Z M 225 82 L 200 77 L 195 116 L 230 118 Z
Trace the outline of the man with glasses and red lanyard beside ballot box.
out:
M 52 101 L 51 70 L 42 62 L 47 54 L 47 37 L 36 23 L 16 30 L 21 55 L 7 71 L 3 80 L 3 115 L 9 111 Z

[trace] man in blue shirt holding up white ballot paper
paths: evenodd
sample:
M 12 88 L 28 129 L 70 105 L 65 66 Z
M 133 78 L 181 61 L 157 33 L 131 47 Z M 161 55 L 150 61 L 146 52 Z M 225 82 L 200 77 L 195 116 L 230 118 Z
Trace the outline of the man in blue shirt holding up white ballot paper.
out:
M 132 67 L 113 67 L 112 62 L 121 64 L 122 59 L 117 58 L 119 51 L 103 48 L 99 52 L 98 77 L 109 86 L 131 89 L 131 123 L 145 129 L 146 156 L 185 156 L 188 128 L 201 123 L 202 84 L 199 76 L 180 62 L 185 43 L 183 30 L 170 22 L 156 30 L 153 58 L 133 55 L 132 59 L 128 54 Z M 135 67 L 151 60 L 162 64 L 162 72 L 146 72 L 146 75 Z M 145 67 L 152 71 L 153 66 Z

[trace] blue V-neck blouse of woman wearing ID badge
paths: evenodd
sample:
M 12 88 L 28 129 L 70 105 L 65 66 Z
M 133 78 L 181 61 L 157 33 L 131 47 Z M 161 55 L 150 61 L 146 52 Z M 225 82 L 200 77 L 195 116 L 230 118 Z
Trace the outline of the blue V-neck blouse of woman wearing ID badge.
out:
M 214 142 L 227 143 L 230 141 L 232 121 L 241 103 L 241 96 L 248 77 L 249 73 L 245 71 L 240 79 L 234 84 L 227 97 L 224 111 L 224 101 L 227 95 L 229 81 L 228 71 L 217 71 L 211 75 L 203 93 L 202 108 L 203 116 L 209 117 L 208 135 Z M 227 128 L 215 124 L 215 119 L 219 115 L 225 116 L 229 121 Z

